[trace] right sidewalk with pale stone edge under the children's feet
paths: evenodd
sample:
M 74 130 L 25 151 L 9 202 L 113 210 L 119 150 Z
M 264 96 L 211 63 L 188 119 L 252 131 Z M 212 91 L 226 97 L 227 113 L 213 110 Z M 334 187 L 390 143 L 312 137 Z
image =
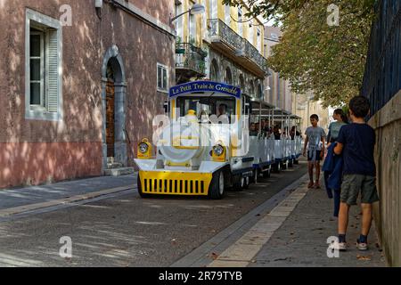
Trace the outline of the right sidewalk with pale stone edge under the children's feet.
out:
M 216 254 L 209 267 L 289 267 L 289 266 L 386 266 L 376 239 L 374 224 L 369 234 L 367 251 L 356 249 L 359 236 L 360 208 L 350 211 L 348 251 L 339 257 L 328 257 L 327 239 L 337 235 L 337 219 L 332 216 L 333 201 L 324 189 L 307 189 L 307 181 L 299 184 L 286 199 L 262 216 L 225 251 Z

